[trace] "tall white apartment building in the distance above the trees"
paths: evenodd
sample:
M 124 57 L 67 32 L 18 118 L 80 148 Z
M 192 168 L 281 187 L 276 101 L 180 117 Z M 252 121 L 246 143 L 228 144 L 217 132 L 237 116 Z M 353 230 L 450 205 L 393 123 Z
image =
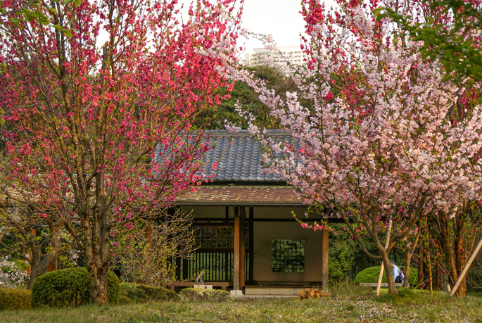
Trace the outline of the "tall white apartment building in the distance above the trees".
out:
M 296 65 L 303 65 L 303 58 L 305 58 L 305 56 L 300 49 L 300 46 L 296 45 L 279 46 L 277 51 L 260 48 L 244 53 L 244 61 L 246 65 L 249 66 L 266 65 L 269 58 L 271 58 L 274 63 L 278 64 L 286 64 L 286 62 L 290 62 Z

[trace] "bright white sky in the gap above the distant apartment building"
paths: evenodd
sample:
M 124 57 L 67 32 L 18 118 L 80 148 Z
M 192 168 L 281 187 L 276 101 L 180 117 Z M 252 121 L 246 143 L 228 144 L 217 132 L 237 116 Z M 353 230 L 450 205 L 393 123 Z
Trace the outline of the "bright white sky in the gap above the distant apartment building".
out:
M 272 34 L 277 46 L 299 45 L 305 23 L 300 0 L 245 0 L 242 25 L 255 33 Z M 328 0 L 329 8 L 333 0 Z M 262 42 L 240 37 L 238 44 L 248 51 L 263 47 Z

